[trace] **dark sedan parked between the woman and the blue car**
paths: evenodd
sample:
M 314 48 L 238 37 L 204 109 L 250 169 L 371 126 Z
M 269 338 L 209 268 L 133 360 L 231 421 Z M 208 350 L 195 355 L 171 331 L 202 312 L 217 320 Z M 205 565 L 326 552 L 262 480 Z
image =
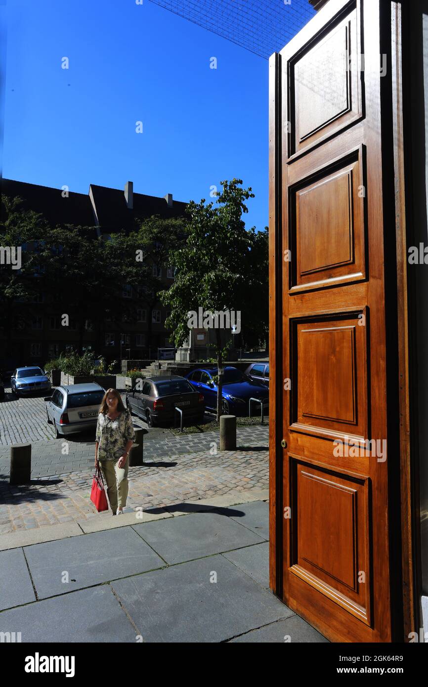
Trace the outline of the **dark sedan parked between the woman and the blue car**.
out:
M 146 377 L 142 389 L 134 388 L 126 394 L 126 407 L 131 413 L 146 420 L 148 427 L 161 422 L 179 420 L 176 407 L 182 408 L 183 420 L 201 423 L 205 413 L 203 395 L 179 375 Z

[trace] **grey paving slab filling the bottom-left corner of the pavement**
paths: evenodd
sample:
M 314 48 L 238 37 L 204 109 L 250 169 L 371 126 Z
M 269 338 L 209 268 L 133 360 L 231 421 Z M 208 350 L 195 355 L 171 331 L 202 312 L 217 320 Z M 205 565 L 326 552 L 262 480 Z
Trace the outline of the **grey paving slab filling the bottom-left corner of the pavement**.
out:
M 21 642 L 136 641 L 135 629 L 109 585 L 3 611 L 0 632 L 21 632 Z

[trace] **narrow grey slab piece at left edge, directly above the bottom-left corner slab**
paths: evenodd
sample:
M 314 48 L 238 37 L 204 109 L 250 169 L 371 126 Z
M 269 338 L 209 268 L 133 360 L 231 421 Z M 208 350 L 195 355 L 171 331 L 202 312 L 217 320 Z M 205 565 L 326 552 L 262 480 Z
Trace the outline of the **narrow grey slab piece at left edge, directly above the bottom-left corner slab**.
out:
M 22 549 L 0 552 L 0 611 L 35 601 Z

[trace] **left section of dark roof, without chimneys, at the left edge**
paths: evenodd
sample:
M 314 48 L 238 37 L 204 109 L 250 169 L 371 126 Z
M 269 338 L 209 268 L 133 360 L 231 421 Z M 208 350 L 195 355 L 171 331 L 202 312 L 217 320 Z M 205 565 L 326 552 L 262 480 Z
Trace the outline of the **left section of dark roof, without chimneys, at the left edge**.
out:
M 1 181 L 1 193 L 10 198 L 20 196 L 25 210 L 41 212 L 50 225 L 65 224 L 95 226 L 91 199 L 84 193 L 69 192 L 68 198 L 63 198 L 61 190 L 38 186 L 25 181 Z

